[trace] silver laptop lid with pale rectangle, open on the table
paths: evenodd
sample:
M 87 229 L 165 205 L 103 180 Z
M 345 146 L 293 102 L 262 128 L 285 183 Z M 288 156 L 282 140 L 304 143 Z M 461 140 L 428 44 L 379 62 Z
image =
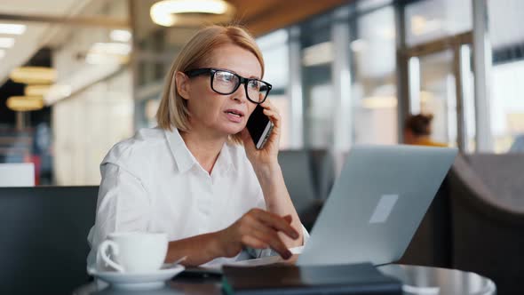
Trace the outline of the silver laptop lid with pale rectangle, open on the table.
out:
M 457 148 L 355 146 L 298 265 L 375 265 L 401 258 Z

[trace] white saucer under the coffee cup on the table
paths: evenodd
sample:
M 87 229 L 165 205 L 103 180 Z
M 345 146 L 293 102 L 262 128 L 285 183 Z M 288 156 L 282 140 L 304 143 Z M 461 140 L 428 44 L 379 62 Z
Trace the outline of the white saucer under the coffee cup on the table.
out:
M 162 288 L 165 285 L 165 281 L 181 273 L 184 268 L 182 265 L 177 265 L 170 268 L 161 268 L 150 273 L 125 274 L 116 271 L 99 271 L 88 267 L 87 273 L 110 283 L 116 289 L 149 290 Z

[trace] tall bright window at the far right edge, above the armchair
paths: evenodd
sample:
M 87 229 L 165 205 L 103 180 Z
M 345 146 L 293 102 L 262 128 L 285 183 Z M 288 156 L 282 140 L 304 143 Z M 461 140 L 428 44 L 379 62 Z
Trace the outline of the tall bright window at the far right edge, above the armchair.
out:
M 496 153 L 524 152 L 524 2 L 488 1 L 493 50 L 491 132 Z

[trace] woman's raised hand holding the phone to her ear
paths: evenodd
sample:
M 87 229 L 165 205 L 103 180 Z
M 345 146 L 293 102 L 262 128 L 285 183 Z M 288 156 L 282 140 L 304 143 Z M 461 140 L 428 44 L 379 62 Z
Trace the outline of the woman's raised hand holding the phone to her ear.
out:
M 278 163 L 277 155 L 281 135 L 281 116 L 269 100 L 266 100 L 260 106 L 264 108 L 264 115 L 268 116 L 269 120 L 274 124 L 273 131 L 269 135 L 266 144 L 263 148 L 257 149 L 247 128 L 242 130 L 241 135 L 246 155 L 253 167 L 270 167 Z

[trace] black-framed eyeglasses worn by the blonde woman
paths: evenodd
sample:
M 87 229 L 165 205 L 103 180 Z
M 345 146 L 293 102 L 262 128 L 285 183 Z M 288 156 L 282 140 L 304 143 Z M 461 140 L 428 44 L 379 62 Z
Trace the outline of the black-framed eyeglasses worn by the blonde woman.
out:
M 194 77 L 203 74 L 210 74 L 211 89 L 218 94 L 228 95 L 236 92 L 240 84 L 244 84 L 246 97 L 252 103 L 263 103 L 269 91 L 273 87 L 271 84 L 253 78 L 244 78 L 232 71 L 222 68 L 195 68 L 185 73 L 187 76 Z

